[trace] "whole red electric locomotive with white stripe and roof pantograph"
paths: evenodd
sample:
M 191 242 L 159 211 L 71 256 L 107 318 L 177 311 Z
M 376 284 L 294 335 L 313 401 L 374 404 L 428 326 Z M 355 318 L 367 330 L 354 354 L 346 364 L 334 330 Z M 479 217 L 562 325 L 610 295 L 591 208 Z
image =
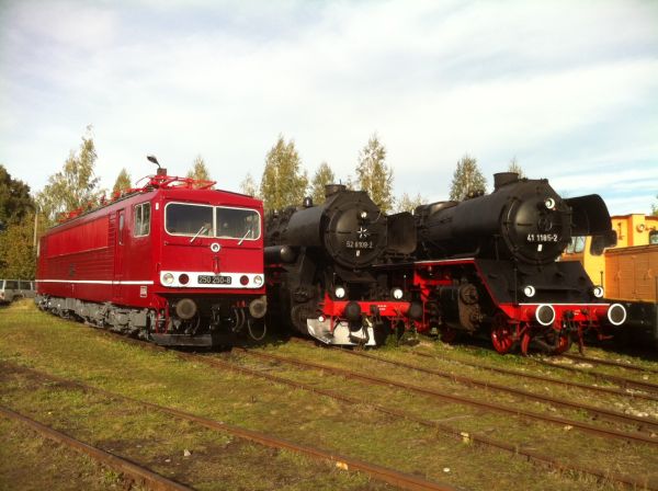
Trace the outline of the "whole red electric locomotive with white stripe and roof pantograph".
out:
M 158 169 L 144 187 L 70 214 L 41 239 L 37 305 L 162 345 L 262 339 L 262 202 L 213 185 Z

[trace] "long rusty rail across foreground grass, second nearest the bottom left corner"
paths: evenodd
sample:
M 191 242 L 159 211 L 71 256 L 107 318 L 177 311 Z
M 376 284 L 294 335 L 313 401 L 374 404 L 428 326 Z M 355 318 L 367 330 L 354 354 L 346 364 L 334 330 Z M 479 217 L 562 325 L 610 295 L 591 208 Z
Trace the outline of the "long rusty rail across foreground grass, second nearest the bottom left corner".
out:
M 13 365 L 7 362 L 2 362 L 4 365 Z M 15 365 L 13 365 L 15 366 Z M 36 373 L 43 377 L 50 378 L 60 384 L 65 384 L 68 386 L 73 386 L 80 388 L 82 390 L 88 390 L 92 392 L 102 393 L 109 398 L 122 399 L 127 402 L 132 402 L 144 408 L 154 409 L 156 411 L 161 411 L 163 413 L 170 414 L 172 416 L 193 421 L 202 426 L 205 426 L 209 430 L 220 431 L 225 433 L 230 433 L 234 436 L 258 443 L 260 445 L 277 448 L 277 449 L 286 449 L 296 454 L 302 454 L 307 457 L 314 458 L 316 460 L 321 461 L 330 461 L 333 463 L 337 467 L 343 470 L 358 470 L 364 473 L 372 476 L 373 478 L 387 482 L 393 486 L 397 486 L 405 490 L 410 491 L 455 491 L 455 489 L 451 486 L 440 483 L 436 481 L 429 481 L 427 479 L 419 478 L 417 476 L 412 476 L 406 472 L 400 472 L 395 469 L 390 469 L 388 467 L 379 466 L 376 464 L 371 464 L 364 460 L 360 460 L 353 457 L 349 457 L 342 454 L 338 454 L 331 450 L 325 450 L 321 448 L 311 447 L 308 445 L 297 444 L 295 442 L 291 442 L 288 439 L 280 438 L 276 436 L 268 435 L 262 432 L 257 432 L 253 430 L 247 430 L 245 427 L 236 426 L 232 424 L 224 423 L 222 421 L 211 420 L 208 418 L 200 416 L 196 414 L 192 414 L 185 411 L 181 411 L 175 408 L 169 408 L 164 406 L 159 406 L 154 402 L 143 401 L 139 399 L 132 398 L 129 396 L 124 396 L 117 392 L 111 392 L 105 389 L 101 389 L 98 387 L 92 387 L 87 384 L 82 384 L 76 380 L 68 380 L 63 377 L 57 377 L 55 375 L 42 374 L 38 370 L 33 368 L 20 367 L 25 372 Z

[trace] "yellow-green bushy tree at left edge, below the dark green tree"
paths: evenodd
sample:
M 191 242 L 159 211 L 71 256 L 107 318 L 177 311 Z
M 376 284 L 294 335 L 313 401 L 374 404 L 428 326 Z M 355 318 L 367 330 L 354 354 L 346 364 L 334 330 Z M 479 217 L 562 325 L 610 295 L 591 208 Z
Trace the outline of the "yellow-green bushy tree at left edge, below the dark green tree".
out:
M 34 212 L 31 210 L 0 232 L 0 277 L 31 279 L 35 269 Z

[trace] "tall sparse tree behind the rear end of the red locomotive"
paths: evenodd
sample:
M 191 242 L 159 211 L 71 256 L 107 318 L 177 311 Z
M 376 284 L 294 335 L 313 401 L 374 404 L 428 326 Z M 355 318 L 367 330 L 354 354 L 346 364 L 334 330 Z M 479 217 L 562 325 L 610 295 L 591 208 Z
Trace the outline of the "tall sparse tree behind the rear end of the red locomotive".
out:
M 94 176 L 97 160 L 91 126 L 82 137 L 80 150 L 71 150 L 60 172 L 48 178 L 48 184 L 37 195 L 37 204 L 48 222 L 54 224 L 57 215 L 95 203 L 102 191 L 99 178 Z

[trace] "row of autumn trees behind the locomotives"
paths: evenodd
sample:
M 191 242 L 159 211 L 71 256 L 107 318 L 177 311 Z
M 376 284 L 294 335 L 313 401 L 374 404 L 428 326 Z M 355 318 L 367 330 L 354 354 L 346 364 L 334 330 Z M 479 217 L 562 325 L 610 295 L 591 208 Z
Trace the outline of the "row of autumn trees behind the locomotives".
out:
M 35 239 L 45 229 L 56 225 L 67 212 L 99 206 L 109 194 L 116 197 L 132 189 L 132 178 L 125 168 L 118 173 L 111 192 L 101 189 L 95 175 L 97 159 L 89 126 L 79 148 L 70 151 L 61 170 L 50 175 L 43 191 L 34 196 L 27 184 L 12 179 L 0 164 L 0 277 L 34 277 Z M 356 155 L 354 176 L 340 179 L 324 161 L 309 178 L 294 140 L 286 140 L 280 135 L 265 155 L 260 182 L 247 174 L 240 190 L 261 198 L 265 209 L 281 209 L 299 206 L 306 196 L 320 204 L 325 201 L 327 184 L 342 183 L 348 189 L 367 191 L 385 213 L 413 210 L 426 199 L 420 194 L 394 196 L 394 173 L 386 159 L 386 147 L 373 134 Z M 509 170 L 523 173 L 515 159 L 510 162 Z M 186 176 L 211 180 L 208 167 L 201 155 L 193 160 Z M 450 199 L 461 201 L 484 192 L 486 179 L 476 159 L 465 155 L 456 164 Z

